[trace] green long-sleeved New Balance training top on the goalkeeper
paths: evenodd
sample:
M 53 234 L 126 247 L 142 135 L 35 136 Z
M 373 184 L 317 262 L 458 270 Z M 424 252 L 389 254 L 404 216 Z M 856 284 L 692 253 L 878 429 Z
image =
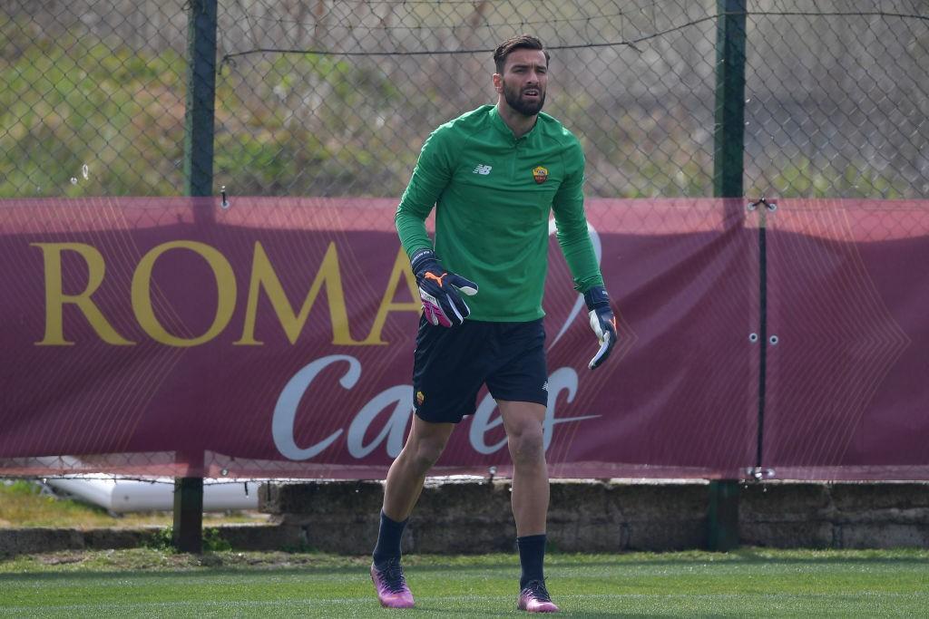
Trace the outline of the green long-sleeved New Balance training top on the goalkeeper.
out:
M 425 218 L 435 205 L 438 259 L 478 283 L 477 295 L 463 295 L 470 318 L 541 318 L 552 211 L 574 288 L 603 286 L 583 212 L 583 168 L 577 137 L 547 114 L 517 139 L 495 106 L 467 112 L 426 139 L 397 208 L 400 242 L 409 256 L 432 247 Z

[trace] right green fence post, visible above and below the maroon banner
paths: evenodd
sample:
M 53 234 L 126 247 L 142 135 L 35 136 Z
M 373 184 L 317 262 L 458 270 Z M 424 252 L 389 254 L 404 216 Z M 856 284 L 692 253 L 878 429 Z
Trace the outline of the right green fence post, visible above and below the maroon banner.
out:
M 713 195 L 742 198 L 745 152 L 745 0 L 717 0 Z M 739 480 L 710 483 L 707 546 L 739 546 Z

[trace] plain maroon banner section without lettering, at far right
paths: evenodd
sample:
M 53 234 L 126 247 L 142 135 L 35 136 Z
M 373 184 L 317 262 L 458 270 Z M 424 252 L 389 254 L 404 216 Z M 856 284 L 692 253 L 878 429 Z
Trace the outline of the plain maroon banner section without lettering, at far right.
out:
M 927 479 L 929 202 L 778 206 L 766 465 L 794 479 Z

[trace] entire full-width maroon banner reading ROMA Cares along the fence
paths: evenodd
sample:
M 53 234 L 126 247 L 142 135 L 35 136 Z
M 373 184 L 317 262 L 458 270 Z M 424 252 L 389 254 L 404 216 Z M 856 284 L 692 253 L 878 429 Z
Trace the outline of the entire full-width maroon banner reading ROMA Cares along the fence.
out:
M 383 478 L 419 316 L 394 208 L 0 202 L 0 474 Z M 926 478 L 929 202 L 587 212 L 620 343 L 587 369 L 595 337 L 553 234 L 554 476 L 744 478 L 760 455 L 768 477 Z M 510 471 L 483 391 L 436 472 L 491 467 Z

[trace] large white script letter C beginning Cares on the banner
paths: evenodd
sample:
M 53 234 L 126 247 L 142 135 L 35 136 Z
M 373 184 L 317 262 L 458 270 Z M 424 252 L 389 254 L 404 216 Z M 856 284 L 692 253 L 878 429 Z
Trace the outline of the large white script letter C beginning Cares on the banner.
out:
M 274 446 L 281 452 L 284 458 L 292 460 L 308 460 L 318 456 L 322 451 L 332 445 L 342 433 L 342 430 L 333 432 L 328 437 L 317 443 L 310 445 L 306 449 L 301 449 L 296 445 L 294 440 L 294 421 L 296 420 L 296 409 L 300 404 L 303 394 L 307 393 L 309 383 L 316 378 L 326 366 L 334 364 L 336 361 L 347 361 L 348 371 L 339 379 L 339 383 L 345 389 L 351 389 L 355 386 L 361 376 L 361 364 L 359 360 L 349 355 L 329 355 L 308 364 L 301 368 L 294 378 L 287 381 L 278 397 L 278 404 L 274 406 L 274 417 L 271 418 L 271 436 L 274 438 Z

